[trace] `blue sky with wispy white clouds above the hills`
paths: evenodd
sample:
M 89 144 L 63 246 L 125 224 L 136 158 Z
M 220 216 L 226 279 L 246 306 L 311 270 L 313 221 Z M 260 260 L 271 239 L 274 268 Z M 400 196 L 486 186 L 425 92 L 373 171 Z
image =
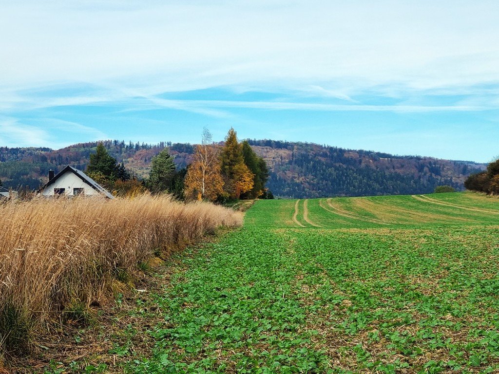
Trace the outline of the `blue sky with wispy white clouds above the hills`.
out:
M 0 0 L 0 146 L 312 142 L 490 162 L 499 1 Z

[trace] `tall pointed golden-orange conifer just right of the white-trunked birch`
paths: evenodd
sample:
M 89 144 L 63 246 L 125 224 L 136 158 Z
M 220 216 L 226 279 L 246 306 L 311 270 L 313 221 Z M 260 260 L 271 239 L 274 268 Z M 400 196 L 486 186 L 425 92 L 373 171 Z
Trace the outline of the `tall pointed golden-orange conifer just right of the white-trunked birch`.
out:
M 229 197 L 240 198 L 254 185 L 254 174 L 245 164 L 242 146 L 238 143 L 236 131 L 231 128 L 220 154 L 224 189 Z

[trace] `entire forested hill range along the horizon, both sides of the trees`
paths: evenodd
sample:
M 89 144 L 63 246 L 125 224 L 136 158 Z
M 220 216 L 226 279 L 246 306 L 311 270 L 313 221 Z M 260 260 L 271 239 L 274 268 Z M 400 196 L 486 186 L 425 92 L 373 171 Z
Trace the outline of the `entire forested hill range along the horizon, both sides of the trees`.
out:
M 429 157 L 393 156 L 316 144 L 249 140 L 270 169 L 267 187 L 281 197 L 362 196 L 433 192 L 439 185 L 463 189 L 465 179 L 486 164 Z M 0 147 L 0 180 L 6 187 L 37 188 L 50 169 L 72 165 L 84 170 L 96 142 L 60 150 Z M 149 173 L 151 158 L 168 147 L 179 167 L 192 161 L 190 144 L 157 145 L 105 141 L 109 154 L 139 178 Z

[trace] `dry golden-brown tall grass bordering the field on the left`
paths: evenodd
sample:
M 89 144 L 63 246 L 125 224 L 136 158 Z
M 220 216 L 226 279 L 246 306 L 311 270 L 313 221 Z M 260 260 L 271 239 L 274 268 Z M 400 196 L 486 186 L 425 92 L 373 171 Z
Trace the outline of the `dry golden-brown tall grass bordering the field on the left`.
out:
M 154 253 L 241 224 L 234 210 L 168 196 L 0 204 L 0 349 L 27 350 L 33 331 Z

